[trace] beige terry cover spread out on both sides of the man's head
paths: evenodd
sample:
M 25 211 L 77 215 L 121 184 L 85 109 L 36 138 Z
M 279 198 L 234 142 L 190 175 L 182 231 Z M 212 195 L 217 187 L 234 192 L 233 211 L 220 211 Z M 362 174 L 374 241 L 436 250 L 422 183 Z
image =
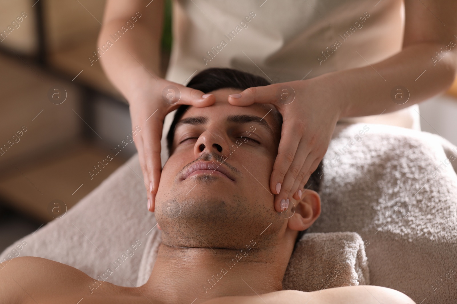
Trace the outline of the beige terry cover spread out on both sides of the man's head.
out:
M 438 135 L 337 124 L 324 157 L 322 213 L 310 232 L 358 233 L 372 285 L 397 289 L 416 303 L 455 303 L 456 157 L 457 147 Z M 147 239 L 157 231 L 141 176 L 134 155 L 65 216 L 6 248 L 1 260 L 38 256 L 133 286 Z M 21 241 L 27 245 L 18 251 Z M 331 278 L 335 269 L 327 271 Z

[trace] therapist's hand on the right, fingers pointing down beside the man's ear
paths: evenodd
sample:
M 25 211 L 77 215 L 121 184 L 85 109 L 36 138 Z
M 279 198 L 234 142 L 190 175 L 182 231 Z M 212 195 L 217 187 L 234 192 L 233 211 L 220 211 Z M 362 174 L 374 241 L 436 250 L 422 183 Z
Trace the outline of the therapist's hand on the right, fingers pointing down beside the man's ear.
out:
M 301 198 L 299 191 L 303 192 L 310 175 L 324 158 L 340 117 L 342 98 L 334 98 L 331 84 L 323 79 L 253 87 L 228 97 L 228 102 L 237 106 L 271 103 L 282 114 L 281 141 L 270 178 L 278 212 L 287 199 Z

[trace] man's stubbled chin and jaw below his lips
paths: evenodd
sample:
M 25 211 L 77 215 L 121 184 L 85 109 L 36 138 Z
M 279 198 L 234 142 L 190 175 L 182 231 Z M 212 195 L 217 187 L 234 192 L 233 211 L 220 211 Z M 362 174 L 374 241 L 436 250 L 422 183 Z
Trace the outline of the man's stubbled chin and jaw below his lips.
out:
M 202 191 L 202 186 L 199 183 L 192 191 L 175 188 L 166 198 L 158 196 L 155 217 L 166 245 L 237 248 L 271 224 L 262 234 L 264 241 L 280 231 L 284 219 L 259 201 L 228 187 Z

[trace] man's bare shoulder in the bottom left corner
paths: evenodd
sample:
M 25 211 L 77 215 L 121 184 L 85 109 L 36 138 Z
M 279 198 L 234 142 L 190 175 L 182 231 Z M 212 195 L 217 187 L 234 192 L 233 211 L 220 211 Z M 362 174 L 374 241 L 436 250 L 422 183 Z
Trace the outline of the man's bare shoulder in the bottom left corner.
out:
M 18 257 L 0 264 L 0 303 L 78 303 L 107 295 L 122 297 L 123 288 L 46 258 Z

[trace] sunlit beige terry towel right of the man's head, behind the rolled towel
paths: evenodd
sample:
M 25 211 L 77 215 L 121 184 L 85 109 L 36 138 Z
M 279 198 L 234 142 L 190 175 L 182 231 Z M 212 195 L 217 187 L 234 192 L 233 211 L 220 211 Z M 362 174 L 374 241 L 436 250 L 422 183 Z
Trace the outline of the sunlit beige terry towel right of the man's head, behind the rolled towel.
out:
M 377 124 L 337 125 L 330 145 L 309 230 L 357 232 L 371 285 L 416 303 L 457 303 L 457 147 Z

